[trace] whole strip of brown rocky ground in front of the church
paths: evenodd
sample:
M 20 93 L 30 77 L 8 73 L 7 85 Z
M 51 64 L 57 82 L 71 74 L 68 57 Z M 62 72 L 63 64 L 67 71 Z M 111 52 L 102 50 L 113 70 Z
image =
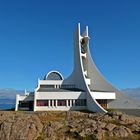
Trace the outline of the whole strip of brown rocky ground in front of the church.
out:
M 121 112 L 0 111 L 0 140 L 139 140 L 140 117 Z

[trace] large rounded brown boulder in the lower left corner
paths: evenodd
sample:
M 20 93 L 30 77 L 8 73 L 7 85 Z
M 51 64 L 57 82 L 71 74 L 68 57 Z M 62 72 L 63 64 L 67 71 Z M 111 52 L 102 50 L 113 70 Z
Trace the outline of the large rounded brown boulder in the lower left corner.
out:
M 36 115 L 0 112 L 0 140 L 33 140 L 43 125 Z

